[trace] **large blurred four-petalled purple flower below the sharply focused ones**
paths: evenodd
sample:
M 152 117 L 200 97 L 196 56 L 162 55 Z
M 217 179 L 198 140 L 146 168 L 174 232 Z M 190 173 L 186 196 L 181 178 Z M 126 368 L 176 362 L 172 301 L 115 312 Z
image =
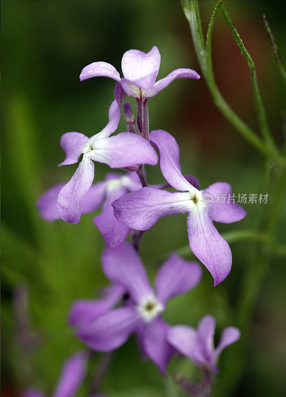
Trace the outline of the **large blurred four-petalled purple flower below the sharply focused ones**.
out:
M 77 335 L 92 349 L 110 351 L 136 332 L 144 354 L 165 373 L 173 349 L 166 340 L 170 326 L 162 319 L 161 313 L 170 298 L 199 283 L 200 266 L 173 253 L 157 273 L 155 293 L 144 265 L 130 243 L 125 242 L 114 250 L 106 249 L 102 264 L 107 277 L 122 285 L 130 298 L 126 306 L 82 324 Z

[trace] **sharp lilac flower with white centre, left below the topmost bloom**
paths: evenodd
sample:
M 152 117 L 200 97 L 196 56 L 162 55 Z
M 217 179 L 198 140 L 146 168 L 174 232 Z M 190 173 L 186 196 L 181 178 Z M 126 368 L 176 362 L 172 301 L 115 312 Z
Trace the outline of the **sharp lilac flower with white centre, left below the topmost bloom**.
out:
M 117 87 L 117 89 L 116 89 Z M 59 165 L 82 161 L 70 181 L 60 190 L 57 197 L 57 211 L 65 222 L 77 224 L 81 215 L 83 200 L 94 178 L 93 161 L 105 163 L 111 168 L 128 167 L 134 164 L 157 164 L 158 158 L 154 148 L 144 138 L 131 132 L 121 132 L 110 136 L 119 123 L 121 102 L 118 100 L 118 84 L 115 87 L 117 101 L 109 109 L 109 123 L 99 133 L 88 138 L 80 132 L 66 132 L 60 138 L 60 145 L 66 158 Z M 120 87 L 120 85 L 119 85 Z M 121 95 L 123 98 L 123 96 Z M 121 100 L 121 99 L 120 99 Z M 119 105 L 118 105 L 119 104 Z

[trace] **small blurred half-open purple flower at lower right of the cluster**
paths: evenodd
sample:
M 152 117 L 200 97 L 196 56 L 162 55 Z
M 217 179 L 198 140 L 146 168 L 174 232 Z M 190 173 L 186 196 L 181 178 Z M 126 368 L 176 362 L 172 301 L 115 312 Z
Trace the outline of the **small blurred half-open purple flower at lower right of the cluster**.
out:
M 214 347 L 216 320 L 212 316 L 202 318 L 195 330 L 188 326 L 171 327 L 167 339 L 181 354 L 188 357 L 201 368 L 216 374 L 216 366 L 221 351 L 240 338 L 240 331 L 235 327 L 227 327 L 222 333 L 218 346 Z

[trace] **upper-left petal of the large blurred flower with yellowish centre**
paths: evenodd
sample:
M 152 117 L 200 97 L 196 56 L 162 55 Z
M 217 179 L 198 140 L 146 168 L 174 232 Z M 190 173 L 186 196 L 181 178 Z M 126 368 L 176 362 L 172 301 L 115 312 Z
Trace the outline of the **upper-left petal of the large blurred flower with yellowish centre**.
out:
M 154 294 L 145 267 L 131 243 L 125 242 L 114 250 L 107 248 L 102 254 L 102 267 L 106 276 L 123 285 L 135 302 Z

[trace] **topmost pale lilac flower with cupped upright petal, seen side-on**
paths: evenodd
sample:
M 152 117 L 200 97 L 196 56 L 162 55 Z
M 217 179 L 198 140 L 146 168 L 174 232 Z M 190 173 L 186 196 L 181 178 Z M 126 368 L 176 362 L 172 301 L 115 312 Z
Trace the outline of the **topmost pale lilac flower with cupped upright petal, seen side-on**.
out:
M 121 68 L 124 78 L 120 78 L 114 66 L 106 62 L 94 62 L 85 66 L 80 73 L 80 80 L 90 77 L 105 76 L 120 82 L 127 95 L 144 100 L 156 95 L 175 78 L 196 78 L 199 74 L 192 69 L 175 69 L 168 76 L 156 81 L 161 62 L 161 55 L 157 47 L 149 53 L 139 50 L 126 51 L 122 57 Z

